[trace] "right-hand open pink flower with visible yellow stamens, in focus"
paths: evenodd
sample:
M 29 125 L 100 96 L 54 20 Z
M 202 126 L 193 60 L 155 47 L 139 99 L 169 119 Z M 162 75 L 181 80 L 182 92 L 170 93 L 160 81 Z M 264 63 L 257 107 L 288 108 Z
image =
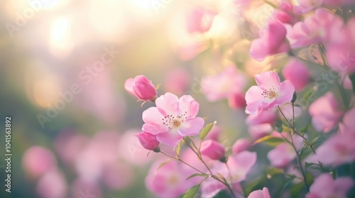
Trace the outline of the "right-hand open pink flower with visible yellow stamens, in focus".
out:
M 251 86 L 246 91 L 246 113 L 255 115 L 292 100 L 295 88 L 290 81 L 280 83 L 275 71 L 256 74 L 255 80 L 258 86 Z

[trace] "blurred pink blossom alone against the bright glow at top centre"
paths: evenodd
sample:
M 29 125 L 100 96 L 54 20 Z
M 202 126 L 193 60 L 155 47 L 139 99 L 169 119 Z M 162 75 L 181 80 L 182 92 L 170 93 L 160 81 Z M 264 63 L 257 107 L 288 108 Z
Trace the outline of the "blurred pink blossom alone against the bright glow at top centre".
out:
M 189 33 L 204 33 L 211 28 L 217 13 L 204 8 L 192 8 L 187 14 L 186 25 Z

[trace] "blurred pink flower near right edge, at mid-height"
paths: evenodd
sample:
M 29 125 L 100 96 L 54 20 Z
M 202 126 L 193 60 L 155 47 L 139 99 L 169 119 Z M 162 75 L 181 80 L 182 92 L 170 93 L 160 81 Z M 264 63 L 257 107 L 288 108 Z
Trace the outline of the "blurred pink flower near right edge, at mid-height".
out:
M 340 105 L 332 92 L 315 100 L 309 108 L 313 127 L 319 132 L 330 132 L 343 115 L 339 109 Z

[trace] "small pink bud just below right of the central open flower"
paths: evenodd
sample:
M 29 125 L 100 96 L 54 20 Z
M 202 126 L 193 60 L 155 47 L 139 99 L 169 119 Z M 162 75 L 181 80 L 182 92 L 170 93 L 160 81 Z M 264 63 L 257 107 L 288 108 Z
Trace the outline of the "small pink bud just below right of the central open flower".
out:
M 202 141 L 201 144 L 201 154 L 211 158 L 212 160 L 219 160 L 224 157 L 224 146 L 219 144 L 217 141 L 212 139 L 207 139 Z

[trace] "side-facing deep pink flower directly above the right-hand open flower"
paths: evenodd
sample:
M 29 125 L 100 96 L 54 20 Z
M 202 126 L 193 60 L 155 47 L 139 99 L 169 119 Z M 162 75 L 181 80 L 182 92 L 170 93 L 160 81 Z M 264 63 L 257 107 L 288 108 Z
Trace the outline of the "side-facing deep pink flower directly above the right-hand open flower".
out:
M 286 39 L 286 28 L 278 21 L 271 21 L 265 30 L 261 30 L 260 38 L 253 40 L 250 55 L 258 61 L 268 56 L 288 52 L 290 49 Z

